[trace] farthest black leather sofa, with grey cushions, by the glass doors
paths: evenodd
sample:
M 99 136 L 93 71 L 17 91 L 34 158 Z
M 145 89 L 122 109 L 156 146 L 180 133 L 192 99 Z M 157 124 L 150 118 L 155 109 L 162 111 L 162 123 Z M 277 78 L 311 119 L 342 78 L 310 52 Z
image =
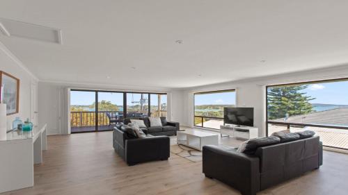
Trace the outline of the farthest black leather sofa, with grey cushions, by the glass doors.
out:
M 160 117 L 162 126 L 150 126 L 148 117 L 140 118 L 144 121 L 146 128 L 141 128 L 145 134 L 150 135 L 176 135 L 177 130 L 180 130 L 180 124 L 177 122 L 167 121 L 166 117 Z M 129 124 L 130 119 L 124 119 L 125 124 Z

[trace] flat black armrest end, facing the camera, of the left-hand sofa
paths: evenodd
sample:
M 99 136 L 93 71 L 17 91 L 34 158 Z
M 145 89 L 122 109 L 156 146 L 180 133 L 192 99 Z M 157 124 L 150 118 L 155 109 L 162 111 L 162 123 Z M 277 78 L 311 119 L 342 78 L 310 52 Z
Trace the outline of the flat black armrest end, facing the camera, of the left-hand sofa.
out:
M 170 155 L 170 139 L 167 136 L 126 139 L 125 161 L 129 165 L 150 160 L 166 160 Z

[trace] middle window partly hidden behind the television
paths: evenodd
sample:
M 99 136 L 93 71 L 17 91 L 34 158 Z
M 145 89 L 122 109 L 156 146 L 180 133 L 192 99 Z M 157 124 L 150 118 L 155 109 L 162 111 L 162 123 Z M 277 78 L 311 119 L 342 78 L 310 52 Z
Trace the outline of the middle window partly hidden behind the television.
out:
M 235 90 L 194 94 L 194 125 L 219 129 L 223 125 L 223 108 L 234 107 Z

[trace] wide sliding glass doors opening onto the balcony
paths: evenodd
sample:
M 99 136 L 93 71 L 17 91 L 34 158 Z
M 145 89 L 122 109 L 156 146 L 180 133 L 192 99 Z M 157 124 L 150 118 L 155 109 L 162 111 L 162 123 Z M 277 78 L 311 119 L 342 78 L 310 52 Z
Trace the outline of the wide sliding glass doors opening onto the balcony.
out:
M 112 130 L 124 116 L 166 117 L 166 97 L 166 94 L 155 93 L 71 90 L 71 132 Z

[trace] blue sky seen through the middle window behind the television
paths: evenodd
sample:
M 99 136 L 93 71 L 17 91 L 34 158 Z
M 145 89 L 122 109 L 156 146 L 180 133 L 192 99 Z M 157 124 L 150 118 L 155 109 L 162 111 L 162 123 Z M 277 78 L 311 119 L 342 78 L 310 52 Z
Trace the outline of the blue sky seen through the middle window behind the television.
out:
M 196 94 L 195 105 L 232 104 L 235 105 L 235 92 L 223 92 L 217 94 Z

